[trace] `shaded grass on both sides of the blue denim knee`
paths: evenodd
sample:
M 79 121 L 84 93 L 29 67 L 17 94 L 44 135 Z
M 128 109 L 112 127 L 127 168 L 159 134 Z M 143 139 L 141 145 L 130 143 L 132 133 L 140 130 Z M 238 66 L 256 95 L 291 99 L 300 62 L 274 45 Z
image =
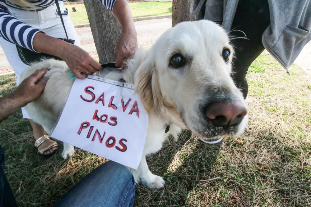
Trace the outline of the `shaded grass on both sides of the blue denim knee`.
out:
M 55 155 L 49 158 L 39 155 L 33 146 L 31 126 L 22 118 L 20 110 L 0 127 L 5 174 L 19 206 L 52 206 L 77 182 L 107 161 L 79 149 L 71 159 L 63 160 L 61 142 L 58 142 Z M 160 152 L 147 160 L 153 173 L 164 176 L 164 191 L 149 190 L 138 184 L 136 198 L 139 199 L 136 200 L 144 203 L 135 205 L 171 205 L 185 200 L 197 179 L 210 178 L 219 149 L 220 145 L 199 143 L 189 131 L 185 131 L 176 143 L 170 138 Z

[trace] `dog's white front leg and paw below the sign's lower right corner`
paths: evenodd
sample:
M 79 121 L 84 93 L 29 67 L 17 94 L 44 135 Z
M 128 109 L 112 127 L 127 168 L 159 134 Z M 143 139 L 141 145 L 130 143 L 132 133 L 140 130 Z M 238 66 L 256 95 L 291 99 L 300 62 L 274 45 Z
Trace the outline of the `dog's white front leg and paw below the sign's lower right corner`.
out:
M 142 156 L 142 160 L 140 161 L 138 168 L 136 170 L 130 169 L 130 171 L 132 172 L 136 182 L 141 182 L 143 185 L 152 189 L 164 187 L 165 181 L 163 178 L 152 174 L 149 170 L 145 155 Z

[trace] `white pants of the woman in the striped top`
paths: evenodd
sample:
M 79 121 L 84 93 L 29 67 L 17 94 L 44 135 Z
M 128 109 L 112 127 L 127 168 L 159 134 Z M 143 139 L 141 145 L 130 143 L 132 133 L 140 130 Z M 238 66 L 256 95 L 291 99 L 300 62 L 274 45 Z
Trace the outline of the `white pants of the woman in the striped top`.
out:
M 63 13 L 66 8 L 63 5 L 63 2 L 59 2 L 59 7 Z M 66 38 L 66 34 L 60 20 L 60 17 L 57 15 L 55 10 L 57 10 L 56 4 L 47 7 L 42 11 L 23 11 L 19 9 L 13 9 L 8 7 L 9 11 L 13 16 L 19 19 L 21 22 L 28 24 L 36 29 L 40 29 L 45 32 L 45 34 L 56 37 L 56 38 Z M 69 15 L 62 15 L 65 28 L 68 34 L 69 39 L 75 40 L 75 45 L 81 47 L 80 41 L 78 39 L 77 32 L 70 20 Z M 10 43 L 0 37 L 0 45 L 7 57 L 8 62 L 12 66 L 15 75 L 16 75 L 16 83 L 19 84 L 19 79 L 21 77 L 22 72 L 28 68 L 29 66 L 24 64 L 18 56 L 16 45 Z M 25 108 L 22 108 L 23 117 L 30 119 Z

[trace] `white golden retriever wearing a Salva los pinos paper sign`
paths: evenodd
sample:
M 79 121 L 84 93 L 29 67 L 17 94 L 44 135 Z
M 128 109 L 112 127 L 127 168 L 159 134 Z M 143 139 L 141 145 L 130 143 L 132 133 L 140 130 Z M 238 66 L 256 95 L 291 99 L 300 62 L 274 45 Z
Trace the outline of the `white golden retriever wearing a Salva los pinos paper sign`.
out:
M 135 92 L 149 115 L 142 160 L 137 170 L 130 169 L 136 182 L 164 187 L 163 178 L 149 170 L 146 155 L 159 151 L 169 133 L 177 139 L 181 129 L 189 129 L 206 141 L 243 133 L 247 106 L 230 77 L 233 53 L 219 25 L 208 20 L 183 22 L 167 30 L 149 51 L 139 49 L 126 70 L 104 69 L 93 74 L 135 83 Z M 66 63 L 52 59 L 32 65 L 21 81 L 43 67 L 51 69 L 44 76 L 49 81 L 26 109 L 51 134 L 74 81 L 67 75 Z M 170 129 L 165 133 L 167 125 Z M 73 153 L 74 147 L 64 143 L 62 157 Z

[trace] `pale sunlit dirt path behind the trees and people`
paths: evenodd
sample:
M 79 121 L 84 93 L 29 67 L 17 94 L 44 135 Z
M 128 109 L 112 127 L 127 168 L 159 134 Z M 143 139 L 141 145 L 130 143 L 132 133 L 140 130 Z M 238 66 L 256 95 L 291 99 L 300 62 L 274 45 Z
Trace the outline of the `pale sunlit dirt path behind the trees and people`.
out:
M 150 47 L 157 38 L 171 27 L 171 18 L 145 20 L 135 22 L 137 30 L 138 46 Z M 91 56 L 97 56 L 91 28 L 77 28 L 82 48 L 89 52 Z M 311 75 L 311 41 L 304 47 L 295 64 L 299 65 Z M 0 75 L 12 73 L 13 69 L 9 65 L 2 48 L 0 47 Z

